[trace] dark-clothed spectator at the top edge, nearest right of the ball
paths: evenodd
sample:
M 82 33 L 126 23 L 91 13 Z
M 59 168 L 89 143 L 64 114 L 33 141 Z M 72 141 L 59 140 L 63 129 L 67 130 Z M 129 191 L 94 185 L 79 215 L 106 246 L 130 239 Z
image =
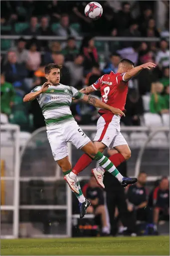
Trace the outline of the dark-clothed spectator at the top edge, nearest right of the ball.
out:
M 132 24 L 132 16 L 131 16 L 131 6 L 128 2 L 122 3 L 122 10 L 118 12 L 117 15 L 117 25 L 118 30 L 123 33 L 125 30 L 129 29 L 130 25 Z

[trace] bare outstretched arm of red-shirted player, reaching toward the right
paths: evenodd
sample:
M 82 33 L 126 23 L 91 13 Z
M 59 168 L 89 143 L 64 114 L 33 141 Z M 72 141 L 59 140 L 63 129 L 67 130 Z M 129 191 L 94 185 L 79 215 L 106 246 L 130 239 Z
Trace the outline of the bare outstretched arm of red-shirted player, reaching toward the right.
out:
M 135 68 L 131 69 L 130 71 L 126 72 L 123 76 L 123 80 L 129 81 L 131 78 L 137 76 L 143 69 L 152 69 L 152 68 L 156 68 L 156 66 L 157 65 L 152 62 L 142 64 L 142 65 L 135 67 Z

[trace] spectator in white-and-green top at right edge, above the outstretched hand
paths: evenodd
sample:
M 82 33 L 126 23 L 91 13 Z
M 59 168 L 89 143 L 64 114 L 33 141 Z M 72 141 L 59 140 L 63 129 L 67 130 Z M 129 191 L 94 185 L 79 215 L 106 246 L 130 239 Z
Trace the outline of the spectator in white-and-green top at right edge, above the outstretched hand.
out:
M 170 66 L 170 50 L 168 49 L 168 42 L 165 39 L 160 42 L 160 48 L 156 56 L 156 64 L 162 69 Z

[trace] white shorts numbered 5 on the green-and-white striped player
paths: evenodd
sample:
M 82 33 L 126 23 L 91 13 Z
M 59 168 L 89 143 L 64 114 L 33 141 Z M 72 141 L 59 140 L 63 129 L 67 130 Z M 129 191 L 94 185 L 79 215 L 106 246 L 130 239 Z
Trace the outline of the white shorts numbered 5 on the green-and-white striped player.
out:
M 60 127 L 47 130 L 47 137 L 55 161 L 68 156 L 67 142 L 71 142 L 77 149 L 81 149 L 91 141 L 76 121 L 67 122 Z

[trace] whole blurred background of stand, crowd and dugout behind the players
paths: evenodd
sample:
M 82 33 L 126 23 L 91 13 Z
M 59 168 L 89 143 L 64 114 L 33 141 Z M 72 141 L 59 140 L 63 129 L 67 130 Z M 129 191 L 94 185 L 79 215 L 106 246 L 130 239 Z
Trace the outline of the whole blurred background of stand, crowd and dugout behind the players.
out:
M 105 226 L 105 235 L 169 233 L 170 1 L 99 1 L 103 16 L 97 21 L 85 17 L 88 3 L 0 3 L 1 237 L 101 235 Z M 118 169 L 139 175 L 139 182 L 125 190 L 105 177 L 102 191 L 90 176 L 92 163 L 79 175 L 92 203 L 80 220 L 78 200 L 53 160 L 39 104 L 22 99 L 45 82 L 48 63 L 62 64 L 61 83 L 79 90 L 116 73 L 122 58 L 158 65 L 130 81 L 121 119 L 132 157 Z M 74 101 L 71 111 L 93 139 L 97 109 Z M 69 152 L 74 166 L 82 153 L 71 145 Z

